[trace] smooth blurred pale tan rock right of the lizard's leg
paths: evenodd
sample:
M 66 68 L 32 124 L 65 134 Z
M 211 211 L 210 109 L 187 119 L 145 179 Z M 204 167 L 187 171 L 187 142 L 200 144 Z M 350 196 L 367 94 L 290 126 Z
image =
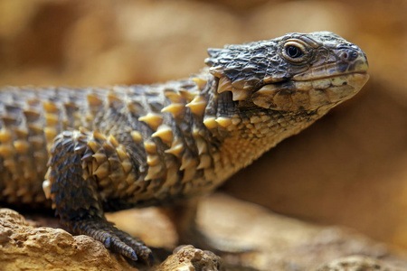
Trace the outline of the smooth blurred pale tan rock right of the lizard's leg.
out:
M 222 194 L 201 202 L 198 224 L 214 247 L 241 251 L 238 256 L 221 255 L 226 263 L 236 266 L 312 270 L 337 258 L 359 255 L 407 270 L 406 257 L 395 256 L 383 243 L 355 231 L 289 219 Z

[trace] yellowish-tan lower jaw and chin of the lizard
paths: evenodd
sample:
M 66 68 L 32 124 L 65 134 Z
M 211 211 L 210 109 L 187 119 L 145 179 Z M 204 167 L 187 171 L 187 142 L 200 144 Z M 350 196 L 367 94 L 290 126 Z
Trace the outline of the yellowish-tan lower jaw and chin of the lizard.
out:
M 258 107 L 285 111 L 310 111 L 334 107 L 355 96 L 369 79 L 366 72 L 348 72 L 325 78 L 288 80 L 268 84 L 253 93 Z

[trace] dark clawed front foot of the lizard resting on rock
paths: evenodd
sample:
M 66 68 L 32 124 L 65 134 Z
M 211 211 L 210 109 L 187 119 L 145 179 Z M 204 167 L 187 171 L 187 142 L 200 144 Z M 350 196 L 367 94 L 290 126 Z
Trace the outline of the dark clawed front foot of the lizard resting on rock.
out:
M 151 249 L 147 248 L 142 240 L 117 229 L 113 223 L 107 220 L 81 220 L 74 224 L 73 230 L 99 240 L 106 248 L 134 261 L 142 259 L 147 264 L 153 262 Z

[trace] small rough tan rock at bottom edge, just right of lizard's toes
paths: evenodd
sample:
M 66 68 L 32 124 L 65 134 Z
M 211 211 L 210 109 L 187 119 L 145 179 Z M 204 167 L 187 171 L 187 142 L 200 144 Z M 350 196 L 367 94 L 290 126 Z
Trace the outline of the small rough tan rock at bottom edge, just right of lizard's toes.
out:
M 184 246 L 175 248 L 174 254 L 164 261 L 156 271 L 200 271 L 225 270 L 222 266 L 222 258 L 213 254 L 211 251 L 205 251 L 194 248 L 193 246 Z

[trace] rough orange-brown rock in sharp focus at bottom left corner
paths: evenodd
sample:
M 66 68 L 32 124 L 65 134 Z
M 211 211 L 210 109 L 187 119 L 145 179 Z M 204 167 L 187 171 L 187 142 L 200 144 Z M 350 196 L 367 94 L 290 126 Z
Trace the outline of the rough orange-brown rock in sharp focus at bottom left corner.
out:
M 99 241 L 33 227 L 9 209 L 0 209 L 0 263 L 1 270 L 137 270 Z

